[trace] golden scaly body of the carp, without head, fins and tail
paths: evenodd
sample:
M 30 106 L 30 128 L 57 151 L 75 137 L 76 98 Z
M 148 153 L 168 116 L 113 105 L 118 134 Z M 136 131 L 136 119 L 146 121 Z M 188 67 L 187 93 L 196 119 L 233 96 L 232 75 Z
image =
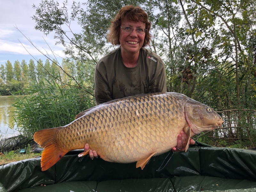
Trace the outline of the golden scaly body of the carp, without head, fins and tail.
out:
M 59 144 L 68 150 L 89 143 L 109 162 L 131 163 L 177 146 L 183 130 L 184 101 L 168 94 L 147 94 L 99 105 L 64 127 Z

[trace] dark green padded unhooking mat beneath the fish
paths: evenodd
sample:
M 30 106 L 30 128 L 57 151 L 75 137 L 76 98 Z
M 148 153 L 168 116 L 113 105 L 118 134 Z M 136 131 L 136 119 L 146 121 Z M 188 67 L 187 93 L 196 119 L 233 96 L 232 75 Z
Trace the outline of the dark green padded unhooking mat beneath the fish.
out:
M 118 164 L 72 151 L 42 172 L 40 157 L 0 166 L 0 192 L 256 192 L 256 151 L 196 142 L 136 163 Z

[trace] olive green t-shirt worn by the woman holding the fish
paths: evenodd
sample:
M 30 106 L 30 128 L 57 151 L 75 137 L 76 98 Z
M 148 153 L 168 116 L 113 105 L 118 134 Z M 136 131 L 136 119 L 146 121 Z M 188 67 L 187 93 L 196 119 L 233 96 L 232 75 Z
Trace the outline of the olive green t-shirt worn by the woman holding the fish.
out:
M 137 66 L 128 68 L 119 47 L 97 63 L 94 91 L 97 105 L 140 93 L 166 92 L 163 60 L 156 53 L 141 48 Z

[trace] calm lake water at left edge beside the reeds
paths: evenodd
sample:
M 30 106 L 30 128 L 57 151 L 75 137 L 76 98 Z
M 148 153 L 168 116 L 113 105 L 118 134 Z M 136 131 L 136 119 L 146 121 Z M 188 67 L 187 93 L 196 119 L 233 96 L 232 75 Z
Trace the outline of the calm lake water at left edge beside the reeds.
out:
M 11 117 L 13 115 L 11 111 L 15 109 L 11 107 L 13 103 L 15 103 L 15 97 L 0 96 L 0 135 L 3 137 L 12 137 L 19 134 L 19 132 L 15 131 L 17 125 Z M 10 129 L 9 126 L 13 127 L 13 129 Z

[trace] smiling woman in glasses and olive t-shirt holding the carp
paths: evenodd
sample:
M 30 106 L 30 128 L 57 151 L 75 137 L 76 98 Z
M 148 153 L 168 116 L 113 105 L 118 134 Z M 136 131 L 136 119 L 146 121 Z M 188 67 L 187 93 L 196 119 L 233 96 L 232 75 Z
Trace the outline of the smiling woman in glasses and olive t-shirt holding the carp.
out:
M 166 92 L 166 75 L 163 60 L 144 48 L 150 45 L 148 15 L 140 7 L 124 6 L 112 21 L 108 41 L 120 45 L 102 57 L 95 69 L 96 104 L 133 96 L 140 93 Z M 183 151 L 187 136 L 180 132 L 173 152 Z M 194 144 L 194 140 L 190 140 Z M 84 151 L 89 145 L 84 146 Z M 89 156 L 98 157 L 90 150 Z

